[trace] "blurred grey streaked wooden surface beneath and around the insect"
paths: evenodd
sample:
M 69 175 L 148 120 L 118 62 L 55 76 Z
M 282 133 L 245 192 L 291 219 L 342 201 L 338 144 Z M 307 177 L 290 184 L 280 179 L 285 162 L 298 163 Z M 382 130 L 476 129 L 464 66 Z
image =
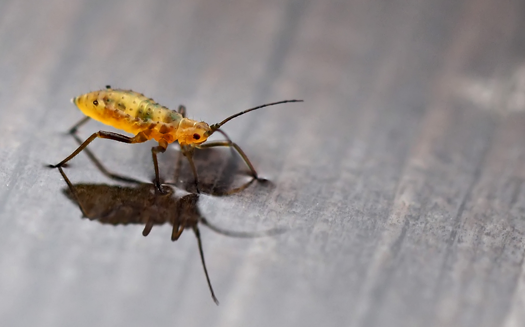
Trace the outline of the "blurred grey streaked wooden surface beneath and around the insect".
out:
M 520 0 L 0 2 L 0 325 L 525 325 L 524 22 Z M 305 100 L 225 125 L 272 183 L 203 216 L 289 231 L 201 227 L 219 306 L 191 231 L 81 219 L 44 167 L 76 147 L 69 99 L 106 84 L 209 123 Z M 90 148 L 148 182 L 151 146 Z M 197 165 L 246 180 L 227 149 Z M 114 184 L 83 154 L 66 173 Z

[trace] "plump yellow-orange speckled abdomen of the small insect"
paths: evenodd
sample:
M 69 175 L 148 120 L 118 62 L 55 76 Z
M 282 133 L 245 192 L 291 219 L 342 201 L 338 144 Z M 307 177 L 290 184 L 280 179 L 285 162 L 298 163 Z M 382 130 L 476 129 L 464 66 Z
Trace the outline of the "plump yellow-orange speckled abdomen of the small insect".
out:
M 76 97 L 83 114 L 103 124 L 171 143 L 182 115 L 131 90 L 105 89 Z

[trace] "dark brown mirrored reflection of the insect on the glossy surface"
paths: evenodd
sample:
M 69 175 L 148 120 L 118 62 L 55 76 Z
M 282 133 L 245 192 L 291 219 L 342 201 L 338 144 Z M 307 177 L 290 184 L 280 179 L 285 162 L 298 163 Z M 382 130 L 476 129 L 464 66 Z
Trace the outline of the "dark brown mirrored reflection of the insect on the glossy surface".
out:
M 213 301 L 218 305 L 212 283 L 209 280 L 208 270 L 204 261 L 204 252 L 201 233 L 198 223 L 209 229 L 230 237 L 254 238 L 271 236 L 284 232 L 276 228 L 261 232 L 229 231 L 214 226 L 202 216 L 197 207 L 199 195 L 190 193 L 177 197 L 171 187 L 163 193 L 155 185 L 140 183 L 135 187 L 111 186 L 105 184 L 76 184 L 73 185 L 64 170 L 58 167 L 68 188 L 64 190 L 66 196 L 75 201 L 84 217 L 98 220 L 102 224 L 144 224 L 143 236 L 148 236 L 154 225 L 170 223 L 173 226 L 171 239 L 176 241 L 184 229 L 192 229 L 197 238 L 197 245 L 201 262 Z

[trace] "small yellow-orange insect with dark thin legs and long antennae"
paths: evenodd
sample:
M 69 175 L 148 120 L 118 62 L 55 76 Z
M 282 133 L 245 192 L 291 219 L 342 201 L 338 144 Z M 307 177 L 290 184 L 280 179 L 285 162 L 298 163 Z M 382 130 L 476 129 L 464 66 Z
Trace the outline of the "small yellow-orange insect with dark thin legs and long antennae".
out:
M 159 146 L 151 149 L 153 165 L 155 168 L 155 186 L 161 192 L 162 188 L 159 179 L 157 154 L 159 152 L 164 152 L 167 146 L 174 141 L 178 141 L 181 146 L 182 154 L 188 158 L 188 161 L 190 162 L 193 176 L 195 177 L 197 192 L 199 191 L 198 177 L 193 162 L 193 152 L 195 148 L 205 149 L 222 146 L 233 147 L 246 162 L 246 165 L 251 171 L 251 175 L 258 179 L 257 172 L 255 171 L 254 166 L 251 165 L 248 157 L 246 157 L 244 151 L 231 140 L 228 139 L 225 141 L 210 141 L 206 144 L 203 143 L 215 131 L 220 131 L 219 128 L 227 121 L 246 114 L 249 111 L 288 102 L 302 102 L 302 100 L 284 100 L 269 103 L 241 111 L 240 113 L 230 116 L 217 124 L 208 125 L 204 121 L 196 121 L 186 118 L 186 108 L 182 105 L 178 107 L 177 111 L 170 110 L 159 105 L 153 101 L 153 99 L 145 97 L 143 94 L 131 90 L 112 89 L 109 85 L 106 86 L 106 89 L 83 94 L 71 99 L 71 101 L 77 105 L 84 115 L 87 116 L 71 128 L 71 133 L 74 133 L 78 127 L 92 118 L 103 124 L 129 132 L 135 136 L 128 137 L 100 130 L 93 133 L 66 159 L 60 161 L 57 165 L 49 165 L 49 167 L 58 168 L 64 166 L 66 162 L 78 155 L 96 138 L 107 138 L 124 143 L 141 143 L 154 139 L 159 142 Z

